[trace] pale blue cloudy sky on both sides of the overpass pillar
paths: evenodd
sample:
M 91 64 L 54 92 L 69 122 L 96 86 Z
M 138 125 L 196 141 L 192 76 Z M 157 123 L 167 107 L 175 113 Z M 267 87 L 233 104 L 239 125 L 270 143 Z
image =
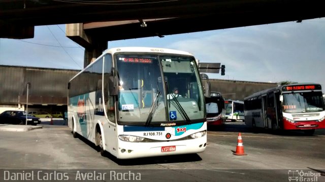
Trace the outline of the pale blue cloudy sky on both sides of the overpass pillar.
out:
M 84 48 L 66 25 L 35 27 L 33 39 L 0 39 L 0 65 L 82 69 Z M 325 18 L 108 42 L 114 47 L 156 47 L 190 52 L 225 65 L 212 79 L 319 83 L 325 91 Z

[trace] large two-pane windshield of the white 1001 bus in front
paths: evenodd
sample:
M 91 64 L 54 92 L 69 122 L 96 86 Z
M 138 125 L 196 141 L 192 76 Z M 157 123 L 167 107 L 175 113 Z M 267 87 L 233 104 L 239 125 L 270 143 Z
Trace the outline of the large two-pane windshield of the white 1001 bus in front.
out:
M 201 82 L 192 56 L 119 53 L 115 59 L 120 84 L 119 122 L 145 123 L 149 115 L 151 123 L 205 117 Z

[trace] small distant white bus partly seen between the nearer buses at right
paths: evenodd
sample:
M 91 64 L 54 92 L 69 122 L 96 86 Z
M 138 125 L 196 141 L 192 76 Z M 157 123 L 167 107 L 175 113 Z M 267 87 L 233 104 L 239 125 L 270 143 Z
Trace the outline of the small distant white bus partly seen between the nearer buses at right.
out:
M 244 122 L 244 102 L 239 100 L 225 100 L 225 119 L 226 121 Z

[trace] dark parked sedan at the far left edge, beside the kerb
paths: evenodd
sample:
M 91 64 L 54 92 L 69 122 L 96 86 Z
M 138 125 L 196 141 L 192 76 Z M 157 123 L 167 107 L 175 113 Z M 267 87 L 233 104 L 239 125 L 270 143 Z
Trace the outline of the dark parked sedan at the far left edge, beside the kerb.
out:
M 0 123 L 10 123 L 10 124 L 26 124 L 26 112 L 22 111 L 5 111 L 0 114 Z M 40 118 L 27 116 L 27 124 L 37 125 L 40 124 Z

